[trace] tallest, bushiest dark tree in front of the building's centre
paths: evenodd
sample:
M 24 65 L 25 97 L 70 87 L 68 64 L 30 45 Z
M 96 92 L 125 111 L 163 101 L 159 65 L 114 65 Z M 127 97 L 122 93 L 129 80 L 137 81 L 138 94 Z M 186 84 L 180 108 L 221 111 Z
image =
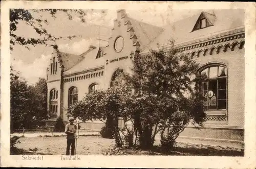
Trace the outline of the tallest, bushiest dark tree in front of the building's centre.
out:
M 168 50 L 138 54 L 133 65 L 133 74 L 125 78 L 136 90 L 131 110 L 141 148 L 150 149 L 158 132 L 162 145 L 171 148 L 190 122 L 202 126 L 206 115 L 196 88 L 198 64 L 180 53 L 173 40 Z

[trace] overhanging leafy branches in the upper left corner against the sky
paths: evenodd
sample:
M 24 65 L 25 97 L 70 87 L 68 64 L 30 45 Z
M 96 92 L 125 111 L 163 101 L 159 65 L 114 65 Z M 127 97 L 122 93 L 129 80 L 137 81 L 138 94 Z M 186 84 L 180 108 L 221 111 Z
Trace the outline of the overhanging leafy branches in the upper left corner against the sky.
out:
M 49 21 L 44 18 L 44 16 L 39 15 L 35 17 L 33 14 L 40 12 L 46 12 L 50 14 L 53 18 L 56 18 L 56 14 L 65 13 L 67 17 L 72 20 L 74 16 L 78 17 L 81 22 L 85 22 L 83 16 L 86 15 L 86 12 L 83 10 L 77 9 L 10 9 L 10 50 L 13 50 L 15 44 L 24 45 L 27 49 L 30 49 L 30 45 L 52 45 L 52 42 L 56 42 L 59 39 L 72 39 L 79 37 L 79 35 L 70 35 L 66 37 L 54 36 L 45 29 L 46 25 L 49 25 Z M 39 38 L 26 38 L 24 36 L 19 36 L 16 33 L 17 24 L 19 21 L 24 21 L 26 25 L 31 26 L 38 35 Z

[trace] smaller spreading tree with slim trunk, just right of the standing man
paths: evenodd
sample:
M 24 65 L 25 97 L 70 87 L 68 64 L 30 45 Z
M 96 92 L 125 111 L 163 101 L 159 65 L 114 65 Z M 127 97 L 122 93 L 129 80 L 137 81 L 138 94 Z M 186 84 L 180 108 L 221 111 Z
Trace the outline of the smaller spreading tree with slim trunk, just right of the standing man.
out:
M 88 120 L 105 120 L 112 117 L 112 131 L 117 147 L 123 146 L 123 139 L 120 134 L 122 130 L 118 128 L 118 117 L 122 117 L 127 109 L 127 104 L 132 96 L 129 88 L 117 86 L 107 90 L 94 90 L 87 94 L 81 101 L 69 108 L 66 108 L 67 115 L 78 117 L 83 122 Z

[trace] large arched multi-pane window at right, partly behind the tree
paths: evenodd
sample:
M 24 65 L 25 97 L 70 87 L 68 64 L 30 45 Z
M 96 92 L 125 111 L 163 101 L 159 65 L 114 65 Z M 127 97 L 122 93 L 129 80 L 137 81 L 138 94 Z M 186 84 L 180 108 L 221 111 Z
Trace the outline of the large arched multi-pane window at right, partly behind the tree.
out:
M 227 67 L 211 64 L 203 67 L 199 74 L 203 76 L 199 89 L 204 96 L 205 110 L 227 109 Z

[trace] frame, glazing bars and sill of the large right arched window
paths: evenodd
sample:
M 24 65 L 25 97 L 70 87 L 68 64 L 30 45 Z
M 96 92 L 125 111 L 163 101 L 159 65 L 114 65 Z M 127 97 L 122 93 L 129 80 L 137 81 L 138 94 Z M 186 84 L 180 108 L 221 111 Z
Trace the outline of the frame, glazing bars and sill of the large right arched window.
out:
M 219 80 L 219 79 L 222 79 L 221 77 L 216 77 L 216 78 L 210 78 L 209 77 L 209 70 L 210 70 L 210 67 L 216 67 L 216 66 L 221 66 L 221 67 L 225 67 L 226 68 L 226 109 L 218 109 L 218 94 L 219 94 L 219 91 L 218 91 L 218 82 L 217 82 L 217 95 L 216 95 L 216 100 L 217 100 L 217 105 L 216 105 L 216 108 L 217 109 L 206 109 L 205 112 L 207 115 L 226 115 L 227 116 L 227 112 L 228 112 L 228 67 L 223 64 L 223 63 L 208 63 L 206 65 L 203 65 L 201 66 L 198 70 L 197 70 L 197 76 L 201 75 L 202 71 L 205 70 L 205 69 L 208 69 L 208 79 L 206 81 L 203 81 L 201 80 L 198 84 L 197 84 L 197 87 L 198 87 L 198 93 L 199 94 L 202 94 L 202 83 L 203 82 L 209 82 L 209 80 Z M 219 69 L 219 68 L 218 68 Z M 219 74 L 219 70 L 218 70 L 218 74 Z M 208 85 L 207 85 L 207 91 L 208 91 Z M 208 100 L 207 100 L 208 102 Z

